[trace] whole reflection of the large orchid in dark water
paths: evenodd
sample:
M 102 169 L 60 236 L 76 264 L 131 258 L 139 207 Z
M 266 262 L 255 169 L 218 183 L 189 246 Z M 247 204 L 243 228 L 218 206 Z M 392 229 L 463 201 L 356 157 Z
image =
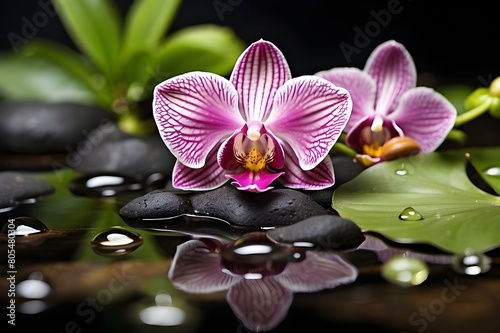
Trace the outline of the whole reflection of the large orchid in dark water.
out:
M 331 289 L 357 278 L 356 268 L 332 252 L 293 249 L 263 238 L 229 245 L 190 240 L 178 247 L 169 278 L 190 293 L 228 290 L 228 304 L 243 324 L 266 331 L 286 317 L 294 292 Z

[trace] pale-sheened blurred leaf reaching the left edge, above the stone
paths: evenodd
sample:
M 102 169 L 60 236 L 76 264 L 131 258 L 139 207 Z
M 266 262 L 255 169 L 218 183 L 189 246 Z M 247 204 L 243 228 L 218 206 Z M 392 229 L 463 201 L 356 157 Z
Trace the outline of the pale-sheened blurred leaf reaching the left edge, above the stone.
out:
M 0 55 L 0 95 L 5 99 L 34 99 L 103 104 L 81 75 L 40 55 Z

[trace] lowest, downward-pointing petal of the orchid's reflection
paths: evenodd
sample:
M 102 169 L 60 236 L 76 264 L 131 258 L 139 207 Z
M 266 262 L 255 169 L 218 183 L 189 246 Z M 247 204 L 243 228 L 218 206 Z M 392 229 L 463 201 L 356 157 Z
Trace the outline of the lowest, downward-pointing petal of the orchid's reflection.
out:
M 293 293 L 269 277 L 241 280 L 229 289 L 226 299 L 246 328 L 262 332 L 270 331 L 285 319 Z

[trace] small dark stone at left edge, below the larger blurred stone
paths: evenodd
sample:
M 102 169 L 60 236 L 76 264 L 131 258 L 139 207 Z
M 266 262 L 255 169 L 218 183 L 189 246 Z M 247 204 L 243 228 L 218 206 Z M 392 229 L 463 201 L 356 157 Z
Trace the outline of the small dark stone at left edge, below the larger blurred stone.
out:
M 0 213 L 54 193 L 49 183 L 18 172 L 0 172 Z

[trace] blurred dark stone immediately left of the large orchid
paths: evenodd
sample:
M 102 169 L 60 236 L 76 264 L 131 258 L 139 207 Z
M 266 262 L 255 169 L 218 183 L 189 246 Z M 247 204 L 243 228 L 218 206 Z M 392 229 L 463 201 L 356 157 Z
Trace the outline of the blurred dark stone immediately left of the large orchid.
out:
M 74 151 L 68 156 L 68 165 L 81 173 L 116 172 L 136 179 L 156 173 L 170 178 L 174 164 L 175 157 L 159 135 L 132 135 L 116 125 L 100 133 L 99 142 L 91 149 Z

